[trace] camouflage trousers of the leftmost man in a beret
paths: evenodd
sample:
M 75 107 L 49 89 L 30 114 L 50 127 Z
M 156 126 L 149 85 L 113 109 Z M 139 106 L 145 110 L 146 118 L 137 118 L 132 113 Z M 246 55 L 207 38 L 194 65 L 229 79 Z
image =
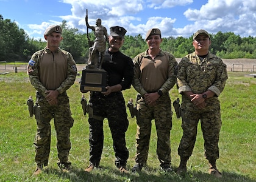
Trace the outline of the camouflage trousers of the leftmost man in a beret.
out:
M 57 106 L 50 106 L 44 98 L 38 99 L 36 109 L 37 134 L 34 140 L 35 162 L 38 166 L 48 165 L 50 146 L 51 146 L 51 124 L 54 118 L 54 127 L 57 135 L 57 152 L 59 163 L 71 164 L 68 161 L 71 142 L 69 140 L 70 128 L 74 120 L 69 109 L 69 99 L 66 93 L 58 96 Z

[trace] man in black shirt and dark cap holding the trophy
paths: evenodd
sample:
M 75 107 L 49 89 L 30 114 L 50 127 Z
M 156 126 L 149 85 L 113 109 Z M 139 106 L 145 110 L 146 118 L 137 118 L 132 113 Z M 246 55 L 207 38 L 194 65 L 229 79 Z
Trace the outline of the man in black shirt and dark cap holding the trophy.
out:
M 115 166 L 120 172 L 128 172 L 126 162 L 129 151 L 126 147 L 125 135 L 129 122 L 121 91 L 129 89 L 132 84 L 133 63 L 131 58 L 119 51 L 124 43 L 125 34 L 126 29 L 123 27 L 110 27 L 110 36 L 108 36 L 110 47 L 105 51 L 102 62 L 102 69 L 108 72 L 107 91 L 90 92 L 90 106 L 88 108 L 90 165 L 85 169 L 86 172 L 91 172 L 95 167 L 99 167 L 104 141 L 104 118 L 107 118 L 108 126 L 112 132 L 116 157 Z

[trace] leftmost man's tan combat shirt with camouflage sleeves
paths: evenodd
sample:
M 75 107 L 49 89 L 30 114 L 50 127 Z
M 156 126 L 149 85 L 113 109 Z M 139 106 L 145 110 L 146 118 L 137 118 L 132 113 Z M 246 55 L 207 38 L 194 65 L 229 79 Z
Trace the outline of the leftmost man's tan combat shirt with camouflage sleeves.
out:
M 52 53 L 49 49 L 39 50 L 32 55 L 27 67 L 32 86 L 45 95 L 46 90 L 65 92 L 74 84 L 77 75 L 73 56 L 59 49 Z

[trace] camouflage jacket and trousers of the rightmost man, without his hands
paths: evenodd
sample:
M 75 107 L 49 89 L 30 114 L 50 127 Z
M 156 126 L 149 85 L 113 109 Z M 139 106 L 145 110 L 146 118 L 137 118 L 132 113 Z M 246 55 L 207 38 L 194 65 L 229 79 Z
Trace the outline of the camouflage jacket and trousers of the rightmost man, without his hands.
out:
M 204 109 L 198 109 L 190 98 L 182 95 L 183 136 L 178 149 L 181 157 L 191 156 L 196 141 L 197 123 L 200 120 L 205 140 L 205 157 L 208 160 L 219 158 L 221 113 L 218 96 L 224 90 L 227 78 L 226 64 L 210 52 L 202 61 L 194 52 L 179 62 L 177 73 L 179 93 L 187 91 L 204 93 L 207 90 L 215 93 L 215 96 L 205 99 Z

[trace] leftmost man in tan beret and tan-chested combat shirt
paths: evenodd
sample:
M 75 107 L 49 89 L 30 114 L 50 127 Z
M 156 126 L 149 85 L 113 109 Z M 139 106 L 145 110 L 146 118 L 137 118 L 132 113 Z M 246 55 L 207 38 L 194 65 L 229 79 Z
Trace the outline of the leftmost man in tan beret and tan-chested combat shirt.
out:
M 68 160 L 71 149 L 69 135 L 74 120 L 66 90 L 76 79 L 76 62 L 69 52 L 59 48 L 62 41 L 62 28 L 59 25 L 49 26 L 44 32 L 44 39 L 47 41 L 46 47 L 32 55 L 27 67 L 30 83 L 37 90 L 38 103 L 35 112 L 37 134 L 34 140 L 37 168 L 34 175 L 40 174 L 43 166 L 48 166 L 52 118 L 57 133 L 57 164 L 63 171 L 68 171 L 71 166 Z

